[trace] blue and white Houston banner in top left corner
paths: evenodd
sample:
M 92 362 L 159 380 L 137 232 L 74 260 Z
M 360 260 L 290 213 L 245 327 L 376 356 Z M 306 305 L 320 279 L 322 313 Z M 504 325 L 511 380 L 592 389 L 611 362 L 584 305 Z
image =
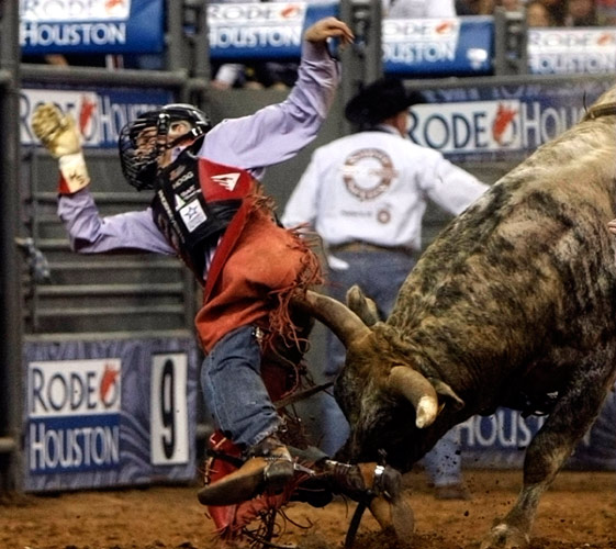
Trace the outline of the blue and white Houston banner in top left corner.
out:
M 20 0 L 24 54 L 160 53 L 164 0 Z

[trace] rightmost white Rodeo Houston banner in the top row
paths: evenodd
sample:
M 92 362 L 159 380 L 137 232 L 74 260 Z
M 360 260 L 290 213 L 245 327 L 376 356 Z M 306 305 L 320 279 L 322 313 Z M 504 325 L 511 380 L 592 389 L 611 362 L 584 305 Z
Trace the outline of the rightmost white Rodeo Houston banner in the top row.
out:
M 535 75 L 616 74 L 616 30 L 529 29 L 528 68 Z

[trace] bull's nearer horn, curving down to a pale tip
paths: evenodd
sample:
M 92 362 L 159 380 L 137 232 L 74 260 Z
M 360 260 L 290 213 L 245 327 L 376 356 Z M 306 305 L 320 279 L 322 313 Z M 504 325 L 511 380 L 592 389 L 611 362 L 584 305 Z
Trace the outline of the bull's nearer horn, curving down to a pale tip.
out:
M 432 383 L 419 372 L 407 366 L 391 369 L 388 385 L 405 396 L 415 407 L 415 425 L 423 429 L 430 425 L 438 414 L 438 397 Z

